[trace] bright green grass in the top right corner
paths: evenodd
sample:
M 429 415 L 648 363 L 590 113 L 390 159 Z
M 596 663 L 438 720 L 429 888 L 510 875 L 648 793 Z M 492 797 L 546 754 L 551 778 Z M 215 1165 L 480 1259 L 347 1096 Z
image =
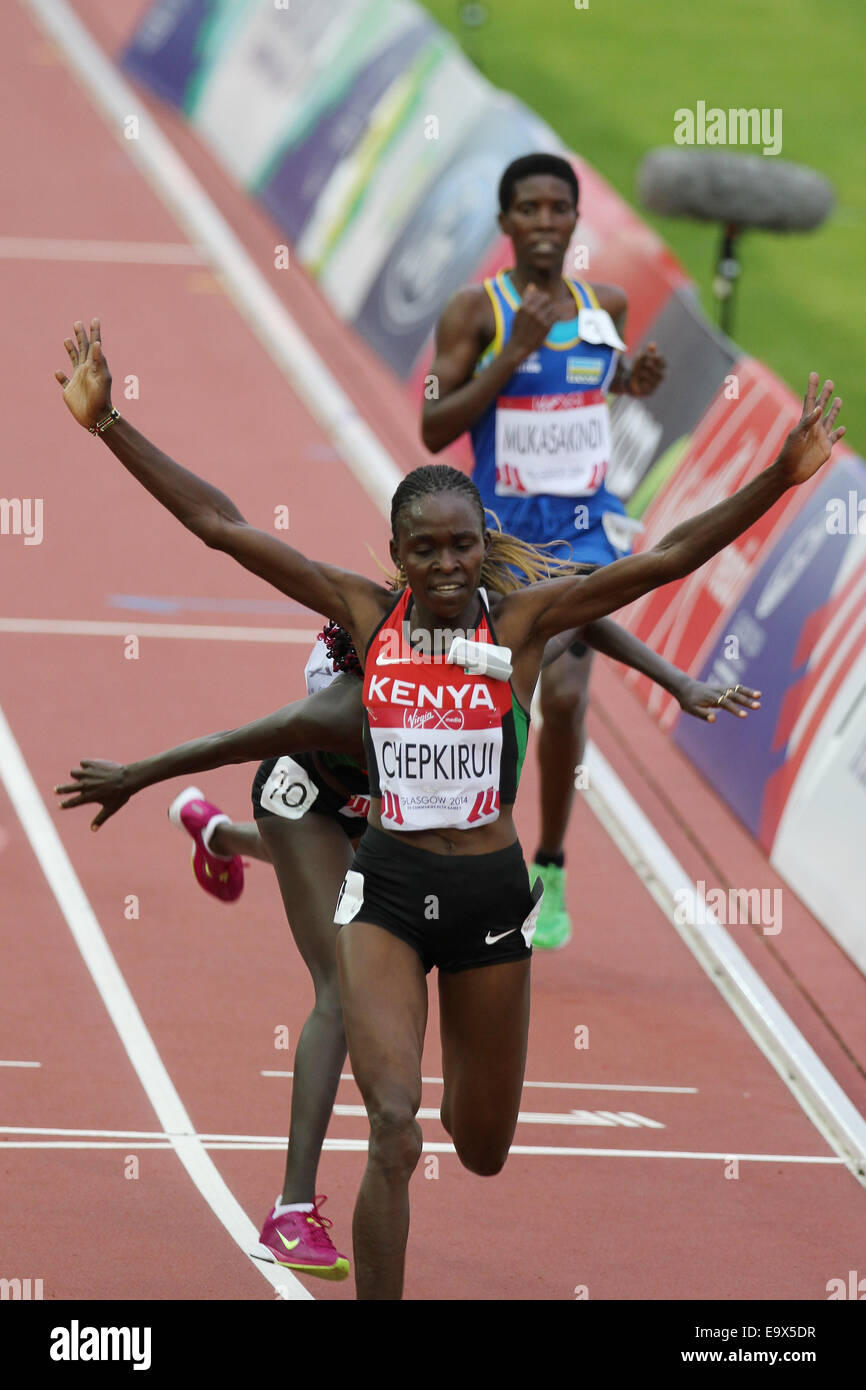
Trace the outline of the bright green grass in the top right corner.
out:
M 573 0 L 487 0 L 477 31 L 461 25 L 457 0 L 425 8 L 467 40 L 491 82 L 542 115 L 634 207 L 638 165 L 673 145 L 677 107 L 781 108 L 780 158 L 824 174 L 837 203 L 817 232 L 742 238 L 733 336 L 798 392 L 810 368 L 833 375 L 848 443 L 866 455 L 863 0 L 589 0 L 587 10 Z M 638 211 L 717 321 L 716 228 Z

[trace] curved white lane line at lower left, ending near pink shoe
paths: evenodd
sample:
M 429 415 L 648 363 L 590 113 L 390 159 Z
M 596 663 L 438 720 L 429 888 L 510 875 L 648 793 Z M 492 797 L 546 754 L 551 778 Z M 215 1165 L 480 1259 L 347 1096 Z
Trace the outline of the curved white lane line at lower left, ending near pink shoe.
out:
M 193 1123 L 153 1044 L 153 1038 L 145 1026 L 145 1020 L 138 1011 L 126 981 L 111 955 L 93 908 L 78 881 L 1 709 L 0 776 L 6 783 L 10 801 L 18 813 L 18 819 L 31 841 L 49 887 L 57 899 L 75 944 L 108 1011 L 108 1016 L 117 1029 L 163 1130 L 171 1138 L 175 1154 L 214 1215 L 238 1243 L 245 1258 L 253 1269 L 257 1269 L 275 1287 L 277 1283 L 285 1282 L 288 1270 L 279 1269 L 279 1276 L 277 1276 L 275 1273 L 270 1273 L 265 1265 L 250 1258 L 249 1251 L 259 1244 L 259 1232 L 225 1186 L 218 1169 L 209 1154 L 206 1154 L 202 1140 L 193 1129 Z M 277 1268 L 274 1266 L 274 1269 Z M 311 1298 L 313 1295 L 307 1293 L 303 1284 L 293 1280 L 291 1297 Z

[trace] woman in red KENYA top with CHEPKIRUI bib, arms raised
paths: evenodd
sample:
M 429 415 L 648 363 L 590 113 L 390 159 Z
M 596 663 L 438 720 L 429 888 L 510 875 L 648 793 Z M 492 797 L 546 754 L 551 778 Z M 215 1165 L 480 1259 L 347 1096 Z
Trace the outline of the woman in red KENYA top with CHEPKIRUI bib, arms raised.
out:
M 802 418 L 778 457 L 733 498 L 674 527 L 649 550 L 588 577 L 493 595 L 489 603 L 480 585 L 493 538 L 477 489 L 456 470 L 416 468 L 392 499 L 391 555 L 406 582 L 395 598 L 250 527 L 225 493 L 121 420 L 111 407 L 99 320 L 90 339 L 76 322 L 65 346 L 72 378 L 56 375 L 75 420 L 100 434 L 206 545 L 332 614 L 366 653 L 371 808 L 335 922 L 342 926 L 349 1055 L 370 1119 L 353 1223 L 357 1294 L 399 1298 L 409 1179 L 421 1154 L 416 1115 L 432 965 L 439 967 L 441 1119 L 457 1155 L 471 1172 L 496 1173 L 514 1133 L 538 894 L 512 810 L 545 645 L 689 574 L 810 478 L 844 434 L 834 428 L 841 400 L 827 410 L 833 384 L 819 398 L 812 373 Z M 455 631 L 475 638 L 459 656 Z

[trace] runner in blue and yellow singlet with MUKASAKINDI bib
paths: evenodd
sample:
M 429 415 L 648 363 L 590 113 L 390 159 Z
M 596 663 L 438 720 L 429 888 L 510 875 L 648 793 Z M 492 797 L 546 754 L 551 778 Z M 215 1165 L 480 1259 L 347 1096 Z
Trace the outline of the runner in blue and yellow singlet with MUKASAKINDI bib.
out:
M 424 404 L 421 434 L 435 453 L 470 432 L 473 480 L 506 531 L 532 543 L 563 541 L 564 559 L 607 564 L 630 552 L 634 523 L 605 481 L 606 395 L 649 395 L 664 361 L 655 343 L 631 364 L 621 356 L 621 289 L 563 277 L 577 196 L 574 171 L 559 156 L 509 164 L 499 225 L 514 267 L 460 291 L 445 309 L 431 366 L 438 395 Z M 584 755 L 591 662 L 575 642 L 541 684 L 541 841 L 532 866 L 545 884 L 541 947 L 564 945 L 571 934 L 563 842 Z

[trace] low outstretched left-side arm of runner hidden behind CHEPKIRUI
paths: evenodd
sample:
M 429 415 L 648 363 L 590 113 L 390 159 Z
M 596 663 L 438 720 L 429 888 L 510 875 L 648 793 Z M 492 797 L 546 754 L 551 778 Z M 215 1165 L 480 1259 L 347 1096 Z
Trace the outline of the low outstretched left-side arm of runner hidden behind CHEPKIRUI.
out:
M 70 773 L 72 781 L 56 787 L 54 792 L 70 798 L 60 802 L 61 810 L 93 803 L 101 806 L 90 823 L 90 830 L 99 830 L 145 787 L 228 763 L 257 762 L 316 748 L 363 756 L 361 682 L 356 676 L 338 676 L 327 689 L 285 705 L 265 719 L 193 738 L 138 763 L 82 758 L 81 767 Z

